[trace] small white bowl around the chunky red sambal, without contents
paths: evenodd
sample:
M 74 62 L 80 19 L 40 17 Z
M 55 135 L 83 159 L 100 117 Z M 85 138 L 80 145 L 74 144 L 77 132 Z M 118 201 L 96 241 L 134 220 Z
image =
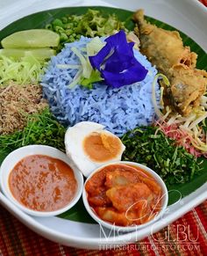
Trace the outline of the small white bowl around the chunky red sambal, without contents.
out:
M 96 173 L 99 172 L 103 169 L 103 167 L 105 166 L 109 166 L 109 165 L 120 165 L 120 164 L 124 164 L 124 165 L 132 165 L 132 166 L 138 166 L 141 169 L 143 169 L 144 171 L 146 171 L 147 173 L 149 173 L 151 176 L 153 176 L 153 179 L 155 179 L 159 185 L 161 186 L 162 189 L 162 193 L 163 196 L 161 198 L 162 200 L 162 208 L 161 211 L 153 218 L 153 220 L 147 222 L 147 223 L 143 223 L 143 224 L 139 224 L 139 225 L 132 225 L 132 226 L 118 226 L 116 224 L 113 223 L 109 223 L 106 221 L 103 221 L 103 219 L 101 219 L 99 216 L 96 215 L 96 212 L 93 210 L 93 208 L 91 208 L 89 206 L 89 201 L 87 198 L 87 192 L 85 190 L 85 186 L 87 181 Z M 121 232 L 130 232 L 130 231 L 134 231 L 134 230 L 139 230 L 142 228 L 145 228 L 146 226 L 153 224 L 154 222 L 156 222 L 159 218 L 161 218 L 161 216 L 165 213 L 165 210 L 168 206 L 168 189 L 164 183 L 164 181 L 161 179 L 161 177 L 156 173 L 153 172 L 153 170 L 151 170 L 150 168 L 146 167 L 145 165 L 140 165 L 138 163 L 134 163 L 134 162 L 128 162 L 128 161 L 118 161 L 118 162 L 114 162 L 111 164 L 107 164 L 107 165 L 102 165 L 101 167 L 97 168 L 94 172 L 92 172 L 88 179 L 86 179 L 83 190 L 82 190 L 82 200 L 84 203 L 85 208 L 87 209 L 87 211 L 89 212 L 89 215 L 97 222 L 99 223 L 100 226 L 103 226 L 105 228 L 108 228 L 110 230 L 117 230 L 117 231 L 121 231 Z

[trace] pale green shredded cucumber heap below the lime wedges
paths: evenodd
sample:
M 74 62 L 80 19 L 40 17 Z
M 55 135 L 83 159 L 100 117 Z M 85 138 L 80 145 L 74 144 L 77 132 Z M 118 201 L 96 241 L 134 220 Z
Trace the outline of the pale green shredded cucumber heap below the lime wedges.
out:
M 0 86 L 11 81 L 17 84 L 36 84 L 43 74 L 44 65 L 44 62 L 39 62 L 31 54 L 26 54 L 19 61 L 0 55 Z

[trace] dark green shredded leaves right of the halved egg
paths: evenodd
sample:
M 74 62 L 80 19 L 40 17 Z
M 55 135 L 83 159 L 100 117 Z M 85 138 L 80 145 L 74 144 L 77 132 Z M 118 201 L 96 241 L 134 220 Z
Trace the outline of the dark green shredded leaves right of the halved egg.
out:
M 200 162 L 158 128 L 142 127 L 122 137 L 125 144 L 123 160 L 147 165 L 157 172 L 167 186 L 185 183 L 201 170 Z

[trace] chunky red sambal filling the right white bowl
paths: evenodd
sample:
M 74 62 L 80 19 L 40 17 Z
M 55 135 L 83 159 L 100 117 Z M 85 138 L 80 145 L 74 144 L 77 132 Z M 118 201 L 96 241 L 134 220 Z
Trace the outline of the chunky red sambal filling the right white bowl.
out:
M 134 165 L 105 166 L 88 180 L 85 188 L 90 207 L 109 223 L 147 223 L 161 210 L 161 186 Z

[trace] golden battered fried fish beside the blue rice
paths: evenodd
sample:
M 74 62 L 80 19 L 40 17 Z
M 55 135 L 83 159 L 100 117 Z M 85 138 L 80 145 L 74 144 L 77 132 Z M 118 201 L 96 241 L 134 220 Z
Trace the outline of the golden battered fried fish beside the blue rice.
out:
M 196 69 L 197 55 L 183 46 L 178 32 L 148 23 L 143 10 L 136 11 L 133 19 L 137 24 L 135 33 L 139 36 L 140 51 L 168 77 L 170 88 L 166 93 L 175 110 L 188 115 L 192 107 L 199 106 L 206 91 L 207 72 Z

